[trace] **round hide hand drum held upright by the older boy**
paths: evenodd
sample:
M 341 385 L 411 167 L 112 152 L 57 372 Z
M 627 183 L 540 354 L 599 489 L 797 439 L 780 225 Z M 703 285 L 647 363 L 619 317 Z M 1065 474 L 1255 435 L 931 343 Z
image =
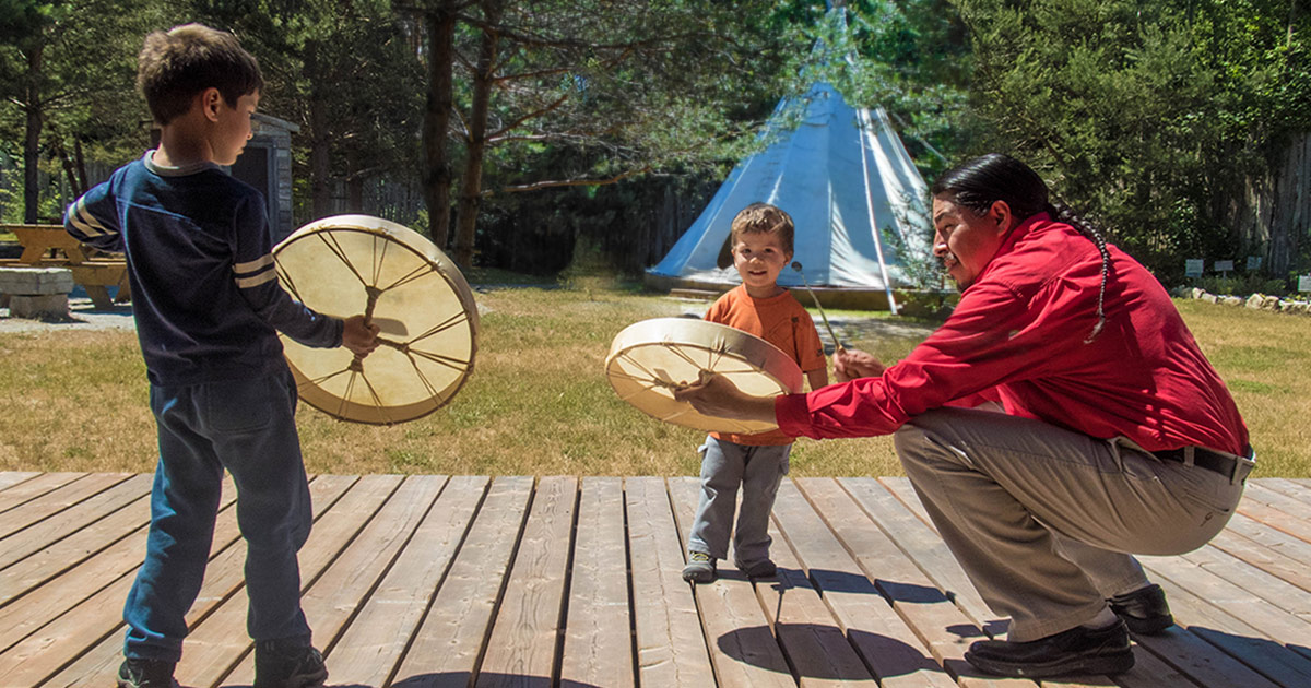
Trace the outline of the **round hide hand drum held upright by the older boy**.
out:
M 442 408 L 473 371 L 473 292 L 420 233 L 338 215 L 302 227 L 273 254 L 282 286 L 300 303 L 338 317 L 364 313 L 380 329 L 380 346 L 364 359 L 282 338 L 311 406 L 343 421 L 400 423 Z

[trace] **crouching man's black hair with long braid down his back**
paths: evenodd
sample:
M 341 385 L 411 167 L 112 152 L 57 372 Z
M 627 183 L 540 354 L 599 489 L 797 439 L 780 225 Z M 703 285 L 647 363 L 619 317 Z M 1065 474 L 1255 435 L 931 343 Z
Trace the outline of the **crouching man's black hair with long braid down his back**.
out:
M 1046 212 L 1053 220 L 1066 223 L 1092 240 L 1101 253 L 1101 290 L 1097 292 L 1097 324 L 1084 342 L 1093 341 L 1106 324 L 1103 304 L 1106 297 L 1106 278 L 1110 274 L 1110 252 L 1101 231 L 1075 215 L 1068 206 L 1054 199 L 1047 185 L 1037 172 L 1019 160 L 1003 155 L 979 156 L 944 172 L 933 182 L 932 194 L 949 194 L 958 206 L 965 206 L 978 215 L 985 215 L 992 203 L 1004 201 L 1011 207 L 1011 215 L 1024 221 L 1040 212 Z

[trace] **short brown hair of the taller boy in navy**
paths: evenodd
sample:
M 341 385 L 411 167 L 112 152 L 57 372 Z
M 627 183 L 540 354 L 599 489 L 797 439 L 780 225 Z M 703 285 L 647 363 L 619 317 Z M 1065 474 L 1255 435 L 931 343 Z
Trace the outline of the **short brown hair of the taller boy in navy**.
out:
M 151 117 L 159 124 L 191 107 L 191 98 L 216 88 L 229 107 L 241 96 L 264 86 L 260 63 L 235 35 L 199 24 L 152 31 L 136 59 L 136 88 L 146 96 Z

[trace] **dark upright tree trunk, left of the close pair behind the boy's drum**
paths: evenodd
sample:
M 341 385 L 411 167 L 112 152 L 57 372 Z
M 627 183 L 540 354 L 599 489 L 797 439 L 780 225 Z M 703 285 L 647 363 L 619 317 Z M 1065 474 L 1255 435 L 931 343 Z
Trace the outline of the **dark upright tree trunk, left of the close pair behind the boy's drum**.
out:
M 451 130 L 451 66 L 455 62 L 455 8 L 440 1 L 427 10 L 427 102 L 423 107 L 423 198 L 429 235 L 446 249 L 451 231 L 451 161 L 447 132 Z

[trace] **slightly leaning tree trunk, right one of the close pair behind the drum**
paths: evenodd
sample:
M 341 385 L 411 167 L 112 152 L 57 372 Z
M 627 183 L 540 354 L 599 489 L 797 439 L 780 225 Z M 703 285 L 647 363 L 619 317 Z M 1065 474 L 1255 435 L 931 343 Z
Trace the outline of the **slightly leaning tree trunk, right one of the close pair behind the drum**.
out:
M 493 73 L 496 71 L 496 25 L 501 22 L 501 0 L 481 3 L 486 28 L 479 47 L 479 63 L 473 69 L 473 104 L 469 107 L 468 151 L 464 176 L 460 178 L 460 203 L 455 214 L 455 262 L 464 269 L 473 266 L 473 240 L 477 235 L 479 206 L 482 201 L 482 159 L 486 155 L 488 109 L 492 104 Z

